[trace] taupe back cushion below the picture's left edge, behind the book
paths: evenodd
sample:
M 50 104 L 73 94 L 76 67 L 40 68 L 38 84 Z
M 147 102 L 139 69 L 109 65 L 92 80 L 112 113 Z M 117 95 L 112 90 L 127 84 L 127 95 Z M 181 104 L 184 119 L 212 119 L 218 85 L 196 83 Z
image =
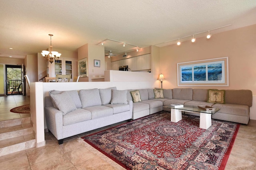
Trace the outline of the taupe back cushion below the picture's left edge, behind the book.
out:
M 192 100 L 192 88 L 174 88 L 172 89 L 172 98 L 180 100 Z

